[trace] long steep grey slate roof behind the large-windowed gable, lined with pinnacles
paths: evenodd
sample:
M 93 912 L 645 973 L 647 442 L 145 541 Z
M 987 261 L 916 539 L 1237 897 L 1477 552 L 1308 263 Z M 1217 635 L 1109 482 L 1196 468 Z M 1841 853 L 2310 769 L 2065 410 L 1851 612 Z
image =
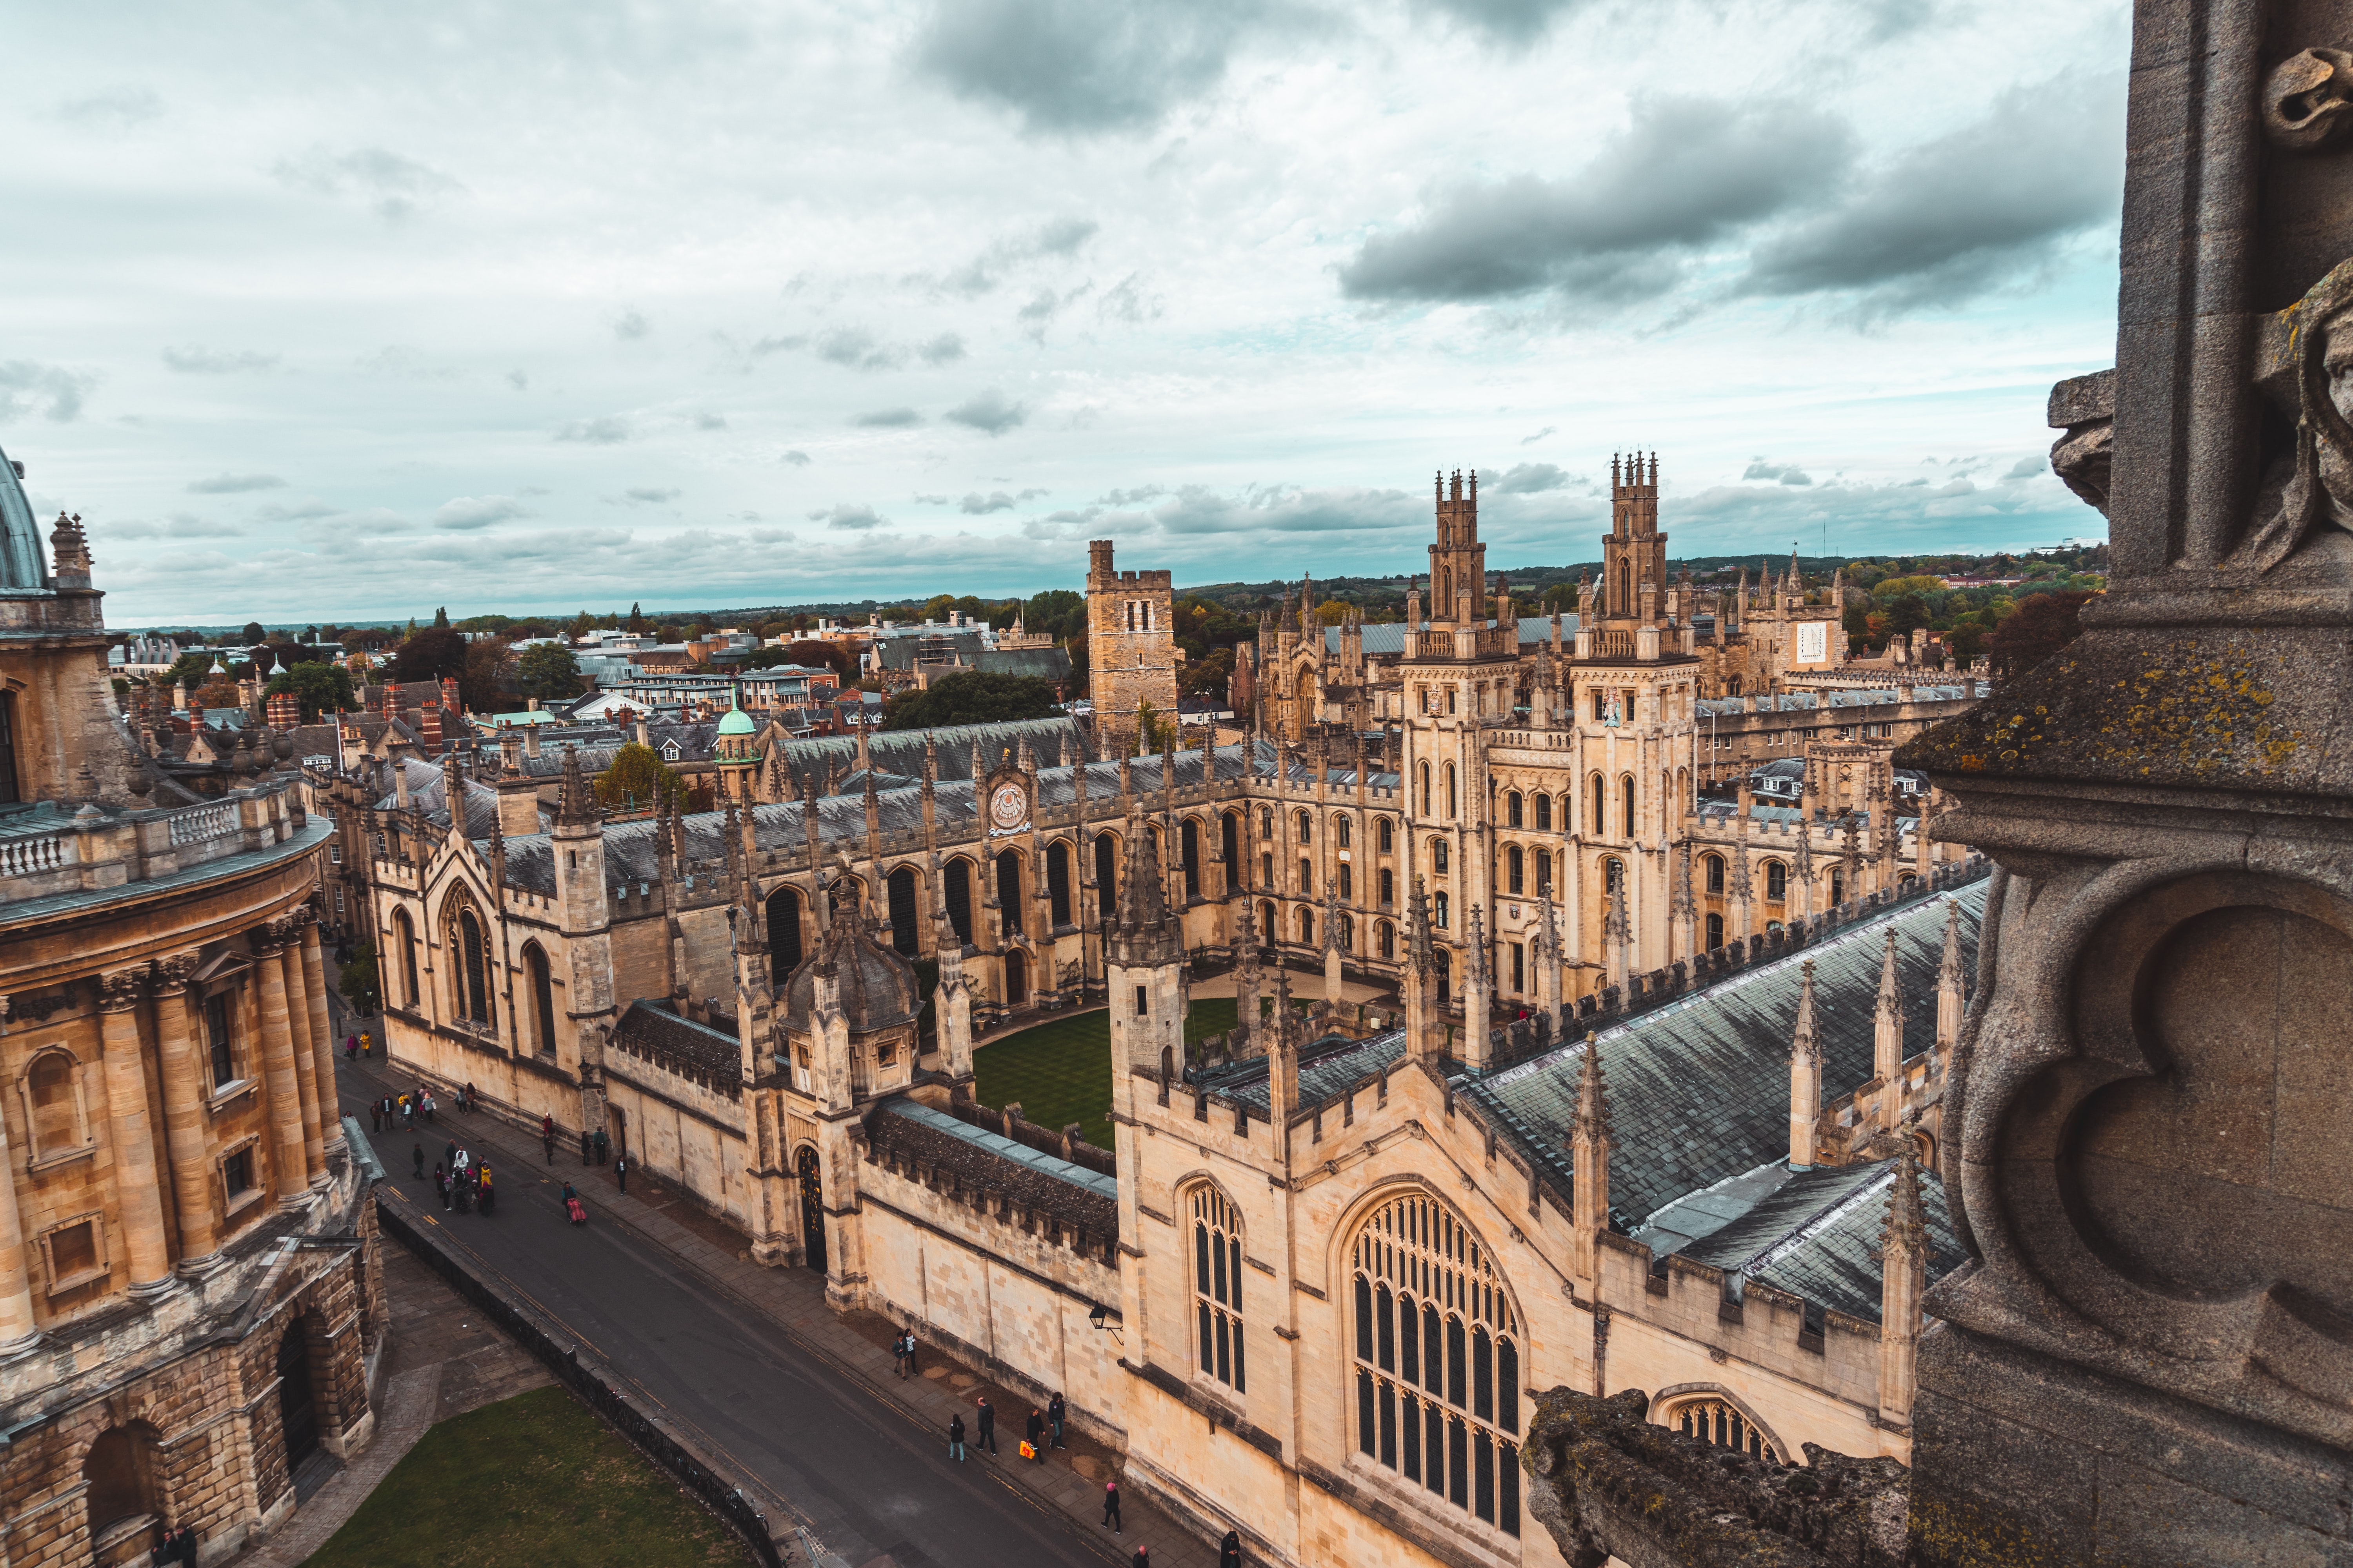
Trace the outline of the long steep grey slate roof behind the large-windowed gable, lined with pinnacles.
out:
M 1962 973 L 1974 973 L 1984 879 L 1861 919 L 1600 1032 L 1614 1138 L 1609 1197 L 1628 1229 L 1701 1187 L 1788 1154 L 1788 1037 L 1802 961 L 1814 961 L 1814 1030 L 1826 1100 L 1871 1077 L 1887 931 L 1897 933 L 1904 1056 L 1934 1046 L 1946 903 L 1960 910 Z M 1461 1088 L 1562 1192 L 1572 1185 L 1569 1138 L 1584 1051 L 1584 1039 L 1574 1039 Z

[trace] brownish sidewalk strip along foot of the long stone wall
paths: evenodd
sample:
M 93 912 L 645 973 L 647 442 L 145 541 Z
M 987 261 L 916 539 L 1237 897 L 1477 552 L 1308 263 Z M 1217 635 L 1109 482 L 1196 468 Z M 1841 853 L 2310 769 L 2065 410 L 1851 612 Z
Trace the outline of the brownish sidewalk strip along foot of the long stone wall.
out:
M 384 1063 L 346 1063 L 344 1072 L 351 1072 L 353 1081 L 374 1081 L 398 1093 L 395 1077 L 384 1072 Z M 920 1342 L 918 1366 L 922 1375 L 899 1378 L 892 1371 L 889 1354 L 889 1340 L 899 1331 L 899 1324 L 873 1312 L 835 1314 L 826 1307 L 821 1274 L 812 1269 L 767 1269 L 751 1262 L 746 1237 L 680 1199 L 664 1180 L 638 1171 L 624 1197 L 614 1182 L 612 1166 L 584 1168 L 576 1147 L 567 1154 L 562 1143 L 558 1143 L 555 1166 L 548 1171 L 536 1138 L 489 1114 L 468 1117 L 442 1110 L 433 1128 L 419 1128 L 419 1133 L 428 1140 L 428 1159 L 433 1157 L 433 1147 L 454 1138 L 459 1147 L 487 1152 L 499 1171 L 513 1175 L 522 1175 L 525 1171 L 532 1175 L 548 1173 L 558 1180 L 569 1180 L 602 1220 L 626 1225 L 675 1258 L 682 1274 L 760 1312 L 786 1340 L 856 1382 L 878 1406 L 896 1410 L 918 1429 L 932 1434 L 941 1450 L 948 1443 L 948 1418 L 962 1413 L 967 1462 L 986 1465 L 1033 1507 L 1049 1509 L 1082 1526 L 1101 1547 L 1106 1561 L 1125 1566 L 1134 1547 L 1148 1544 L 1155 1568 L 1217 1568 L 1214 1540 L 1193 1535 L 1191 1528 L 1179 1526 L 1144 1497 L 1127 1495 L 1120 1455 L 1071 1432 L 1066 1439 L 1071 1446 L 1049 1450 L 1045 1465 L 1021 1460 L 1019 1446 L 1024 1420 L 1031 1410 L 1028 1396 L 1014 1394 Z M 393 1150 L 393 1145 L 395 1140 L 388 1138 L 381 1147 L 386 1150 L 386 1164 L 398 1164 L 395 1178 L 400 1178 L 407 1173 L 407 1157 Z M 393 1159 L 395 1152 L 400 1154 L 398 1161 Z M 979 1425 L 974 1401 L 981 1394 L 998 1408 L 1000 1455 L 986 1455 L 969 1446 L 969 1432 Z M 1127 1526 L 1122 1535 L 1101 1528 L 1104 1481 L 1113 1476 L 1122 1481 L 1120 1507 Z M 784 1505 L 786 1514 L 798 1512 L 791 1497 L 776 1497 L 776 1502 Z M 786 1514 L 772 1512 L 769 1516 L 781 1519 Z M 878 1559 L 875 1563 L 852 1563 L 847 1568 L 892 1566 Z

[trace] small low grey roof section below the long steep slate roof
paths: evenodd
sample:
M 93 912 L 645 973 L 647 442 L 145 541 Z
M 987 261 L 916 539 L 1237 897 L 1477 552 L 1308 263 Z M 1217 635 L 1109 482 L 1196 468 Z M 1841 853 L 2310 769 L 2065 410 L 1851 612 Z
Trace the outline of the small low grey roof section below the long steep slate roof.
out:
M 1751 1279 L 1788 1291 L 1831 1312 L 1880 1321 L 1880 1237 L 1897 1161 L 1817 1166 L 1788 1173 L 1777 1192 L 1715 1234 L 1685 1248 L 1685 1258 L 1732 1274 L 1734 1300 Z M 1927 1218 L 1927 1281 L 1958 1269 L 1967 1253 L 1953 1234 L 1944 1182 L 1920 1173 Z

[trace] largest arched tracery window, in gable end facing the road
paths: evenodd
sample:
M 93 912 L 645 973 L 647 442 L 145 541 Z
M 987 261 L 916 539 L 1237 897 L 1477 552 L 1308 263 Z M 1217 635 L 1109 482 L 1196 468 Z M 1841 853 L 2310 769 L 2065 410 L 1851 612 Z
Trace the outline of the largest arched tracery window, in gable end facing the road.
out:
M 1494 1258 L 1428 1197 L 1355 1237 L 1355 1446 L 1520 1533 L 1520 1324 Z

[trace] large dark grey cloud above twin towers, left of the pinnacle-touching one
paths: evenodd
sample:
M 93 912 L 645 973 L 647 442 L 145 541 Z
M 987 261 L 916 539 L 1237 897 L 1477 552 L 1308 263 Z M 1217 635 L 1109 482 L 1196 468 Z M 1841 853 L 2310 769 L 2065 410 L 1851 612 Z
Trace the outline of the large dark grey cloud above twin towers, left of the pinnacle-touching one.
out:
M 1704 247 L 1819 197 L 1852 158 L 1847 125 L 1798 101 L 1640 99 L 1628 127 L 1574 176 L 1468 186 L 1417 226 L 1365 240 L 1339 273 L 1341 292 L 1647 299 Z

